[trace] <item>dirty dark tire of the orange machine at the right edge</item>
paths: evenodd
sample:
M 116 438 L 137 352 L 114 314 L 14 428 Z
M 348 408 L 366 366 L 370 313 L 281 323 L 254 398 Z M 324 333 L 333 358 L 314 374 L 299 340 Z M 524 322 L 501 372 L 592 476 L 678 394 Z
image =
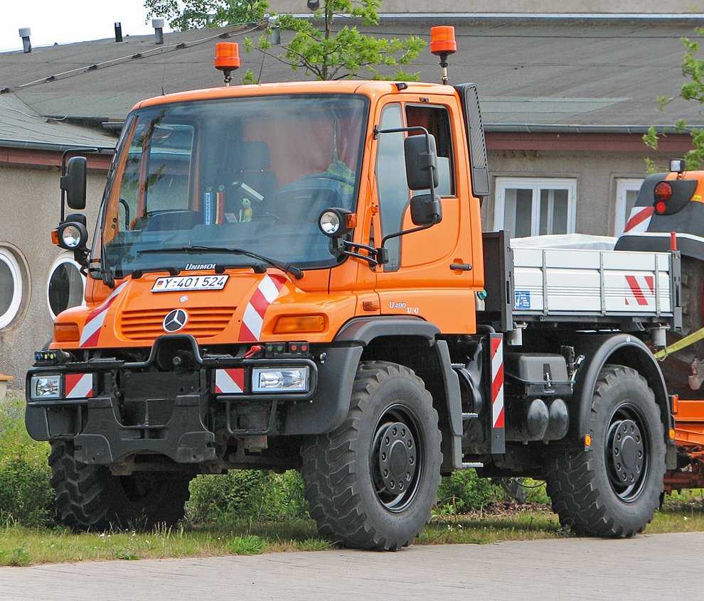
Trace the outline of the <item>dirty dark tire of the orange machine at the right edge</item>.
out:
M 672 345 L 681 338 L 696 332 L 704 326 L 704 261 L 682 257 L 682 332 L 668 332 L 667 344 Z M 669 355 L 661 363 L 668 391 L 683 399 L 704 399 L 704 385 L 698 390 L 691 389 L 689 376 L 695 359 L 704 362 L 704 341 L 695 342 L 680 351 Z

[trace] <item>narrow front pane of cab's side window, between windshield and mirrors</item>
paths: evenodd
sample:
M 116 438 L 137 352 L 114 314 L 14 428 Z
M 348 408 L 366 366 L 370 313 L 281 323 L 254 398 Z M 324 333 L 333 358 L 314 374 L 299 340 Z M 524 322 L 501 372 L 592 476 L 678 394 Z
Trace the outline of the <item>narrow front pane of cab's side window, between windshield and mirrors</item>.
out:
M 380 129 L 403 127 L 401 107 L 390 104 L 381 114 Z M 403 158 L 403 132 L 381 134 L 376 157 L 376 183 L 379 193 L 381 234 L 388 236 L 400 232 L 403 214 L 408 205 L 408 184 Z M 400 265 L 400 238 L 392 238 L 386 243 L 389 262 L 384 271 L 396 271 Z

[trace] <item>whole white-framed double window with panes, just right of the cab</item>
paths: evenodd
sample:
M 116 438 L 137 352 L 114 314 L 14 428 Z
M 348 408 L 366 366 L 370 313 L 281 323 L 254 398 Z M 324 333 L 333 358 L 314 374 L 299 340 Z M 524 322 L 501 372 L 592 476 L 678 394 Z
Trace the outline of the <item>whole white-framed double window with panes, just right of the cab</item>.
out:
M 577 180 L 497 178 L 494 228 L 512 238 L 575 232 Z

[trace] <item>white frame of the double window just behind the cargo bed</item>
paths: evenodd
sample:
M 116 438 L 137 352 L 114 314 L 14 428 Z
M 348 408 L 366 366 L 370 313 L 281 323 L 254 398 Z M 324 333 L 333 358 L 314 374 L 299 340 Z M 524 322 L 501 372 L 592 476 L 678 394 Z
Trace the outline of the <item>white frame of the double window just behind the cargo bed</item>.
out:
M 567 190 L 567 234 L 574 234 L 577 223 L 577 179 L 576 178 L 496 178 L 494 192 L 494 229 L 504 228 L 506 217 L 506 190 L 530 189 L 532 191 L 530 207 L 530 235 L 540 235 L 540 191 Z M 535 202 L 538 200 L 538 202 Z

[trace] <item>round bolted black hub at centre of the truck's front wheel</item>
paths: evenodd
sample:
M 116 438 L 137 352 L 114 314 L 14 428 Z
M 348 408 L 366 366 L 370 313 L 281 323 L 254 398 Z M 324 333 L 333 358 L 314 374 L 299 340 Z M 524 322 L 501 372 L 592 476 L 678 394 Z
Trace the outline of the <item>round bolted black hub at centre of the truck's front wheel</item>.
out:
M 389 492 L 404 492 L 417 466 L 415 440 L 405 423 L 391 423 L 381 436 L 379 473 Z

